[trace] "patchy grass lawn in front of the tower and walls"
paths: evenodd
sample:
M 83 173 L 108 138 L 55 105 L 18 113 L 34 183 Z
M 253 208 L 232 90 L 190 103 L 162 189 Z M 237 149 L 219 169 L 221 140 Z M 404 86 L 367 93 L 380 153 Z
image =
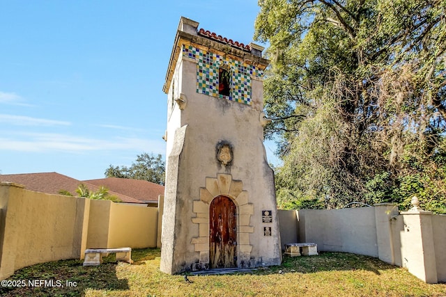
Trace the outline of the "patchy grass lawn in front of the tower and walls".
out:
M 159 249 L 132 250 L 132 259 L 132 265 L 112 255 L 100 266 L 80 260 L 29 266 L 8 278 L 26 287 L 0 287 L 0 296 L 446 296 L 446 284 L 425 284 L 404 268 L 341 252 L 284 257 L 281 266 L 253 273 L 189 275 L 191 282 L 160 272 Z

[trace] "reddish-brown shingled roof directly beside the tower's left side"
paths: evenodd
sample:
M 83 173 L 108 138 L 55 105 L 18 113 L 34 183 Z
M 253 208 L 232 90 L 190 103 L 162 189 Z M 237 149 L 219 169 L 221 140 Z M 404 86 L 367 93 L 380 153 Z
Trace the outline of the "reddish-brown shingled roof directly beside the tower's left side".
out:
M 123 193 L 148 203 L 157 203 L 158 195 L 164 195 L 164 186 L 141 179 L 107 177 L 105 179 L 89 179 L 84 182 L 96 186 L 105 186 L 110 191 Z

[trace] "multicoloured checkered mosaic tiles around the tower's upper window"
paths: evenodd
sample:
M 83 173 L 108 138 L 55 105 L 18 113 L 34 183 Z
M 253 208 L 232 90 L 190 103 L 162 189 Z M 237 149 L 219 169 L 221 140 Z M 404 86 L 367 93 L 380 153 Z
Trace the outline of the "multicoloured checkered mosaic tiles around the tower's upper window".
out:
M 197 61 L 197 93 L 220 97 L 244 104 L 251 102 L 251 77 L 263 77 L 263 71 L 254 65 L 183 45 L 183 56 Z M 229 96 L 218 92 L 218 69 L 224 64 L 231 70 L 231 93 Z

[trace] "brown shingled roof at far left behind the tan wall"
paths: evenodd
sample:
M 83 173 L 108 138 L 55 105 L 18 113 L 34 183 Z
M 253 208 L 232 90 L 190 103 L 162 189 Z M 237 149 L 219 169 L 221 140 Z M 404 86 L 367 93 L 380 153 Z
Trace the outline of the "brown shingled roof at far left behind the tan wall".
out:
M 89 184 L 88 182 L 81 182 L 72 177 L 61 175 L 57 172 L 42 172 L 42 173 L 23 173 L 18 175 L 0 175 L 0 182 L 14 182 L 16 184 L 22 184 L 27 190 L 48 193 L 59 194 L 59 191 L 65 190 L 72 195 L 76 195 L 76 189 L 79 184 L 85 184 L 90 191 L 98 191 L 100 186 Z M 105 186 L 107 188 L 107 186 Z M 109 188 L 109 194 L 117 196 L 121 199 L 121 202 L 126 203 L 144 203 L 141 200 L 129 197 L 124 193 L 117 193 Z M 59 194 L 60 195 L 60 194 Z

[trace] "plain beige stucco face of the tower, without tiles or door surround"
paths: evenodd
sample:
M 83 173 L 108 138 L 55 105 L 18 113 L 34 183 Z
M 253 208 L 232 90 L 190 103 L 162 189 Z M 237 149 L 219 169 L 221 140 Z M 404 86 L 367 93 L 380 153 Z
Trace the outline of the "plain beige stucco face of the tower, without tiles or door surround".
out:
M 246 243 L 244 250 L 250 250 L 245 260 L 254 260 L 256 265 L 279 264 L 280 235 L 273 172 L 266 160 L 263 127 L 259 121 L 263 102 L 262 81 L 255 77 L 250 79 L 252 103 L 244 104 L 197 93 L 197 61 L 180 56 L 176 65 L 181 83 L 174 81 L 177 90 L 170 89 L 169 93 L 183 94 L 187 103 L 181 109 L 175 103 L 173 111 L 169 111 L 162 271 L 177 273 L 206 257 L 201 250 L 197 250 L 195 243 L 208 230 L 205 230 L 205 223 L 192 222 L 192 218 L 199 216 L 193 209 L 193 202 L 201 199 L 200 189 L 207 188 L 206 181 L 218 179 L 218 175 L 230 175 L 233 181 L 243 183 L 247 204 L 251 206 L 238 205 L 238 214 L 241 214 L 240 210 L 243 213 L 243 209 L 252 207 L 247 214 L 250 216 L 249 225 L 243 227 L 244 230 L 252 229 L 252 232 L 239 234 L 239 240 Z M 174 145 L 178 142 L 174 138 L 180 127 L 185 132 L 181 136 L 180 154 L 174 154 Z M 217 145 L 222 142 L 232 147 L 232 160 L 227 166 L 217 159 Z M 236 198 L 232 197 L 237 203 Z M 209 207 L 208 203 L 205 204 Z M 262 222 L 261 214 L 265 210 L 274 213 L 271 223 Z M 264 236 L 263 227 L 271 227 L 272 236 Z M 201 246 L 207 244 L 204 239 L 199 241 Z

